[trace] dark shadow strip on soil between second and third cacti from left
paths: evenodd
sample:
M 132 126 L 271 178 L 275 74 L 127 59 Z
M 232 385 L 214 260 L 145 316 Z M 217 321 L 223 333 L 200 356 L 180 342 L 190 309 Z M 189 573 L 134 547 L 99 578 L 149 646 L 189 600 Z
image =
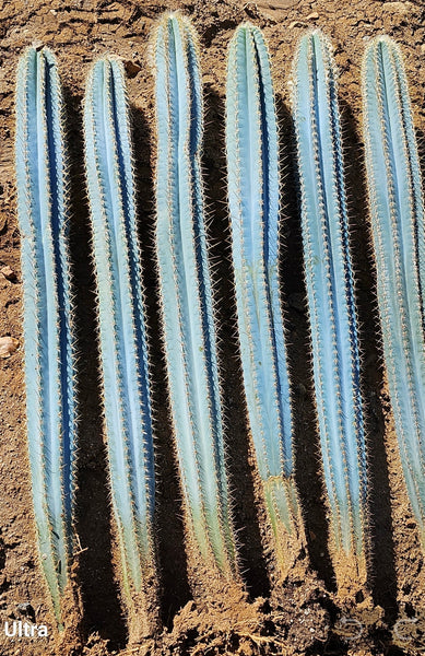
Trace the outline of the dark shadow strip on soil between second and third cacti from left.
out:
M 166 371 L 160 323 L 158 280 L 154 246 L 154 172 L 151 160 L 151 125 L 140 107 L 131 106 L 135 165 L 139 242 L 150 347 L 152 402 L 155 422 L 156 535 L 161 572 L 161 613 L 165 626 L 190 599 L 181 489 L 168 411 Z M 161 384 L 158 382 L 162 382 Z

